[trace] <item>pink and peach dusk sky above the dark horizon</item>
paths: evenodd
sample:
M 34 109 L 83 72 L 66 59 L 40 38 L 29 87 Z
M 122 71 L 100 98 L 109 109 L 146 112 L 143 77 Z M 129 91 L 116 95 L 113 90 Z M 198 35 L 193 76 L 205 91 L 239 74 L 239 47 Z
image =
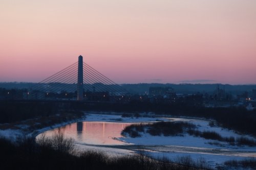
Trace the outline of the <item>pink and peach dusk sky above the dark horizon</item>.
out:
M 256 1 L 0 1 L 0 82 L 79 55 L 116 83 L 256 84 Z

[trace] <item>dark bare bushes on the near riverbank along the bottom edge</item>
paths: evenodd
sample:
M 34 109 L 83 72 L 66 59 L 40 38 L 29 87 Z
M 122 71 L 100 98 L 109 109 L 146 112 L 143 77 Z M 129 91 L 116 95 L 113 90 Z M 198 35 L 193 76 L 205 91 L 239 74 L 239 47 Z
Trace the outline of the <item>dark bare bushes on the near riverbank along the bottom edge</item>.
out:
M 65 138 L 61 134 L 39 138 L 37 143 L 26 137 L 17 141 L 12 143 L 0 138 L 0 169 L 209 169 L 205 161 L 195 162 L 191 158 L 182 158 L 178 163 L 173 163 L 143 154 L 110 157 L 95 151 L 77 152 L 72 138 Z

